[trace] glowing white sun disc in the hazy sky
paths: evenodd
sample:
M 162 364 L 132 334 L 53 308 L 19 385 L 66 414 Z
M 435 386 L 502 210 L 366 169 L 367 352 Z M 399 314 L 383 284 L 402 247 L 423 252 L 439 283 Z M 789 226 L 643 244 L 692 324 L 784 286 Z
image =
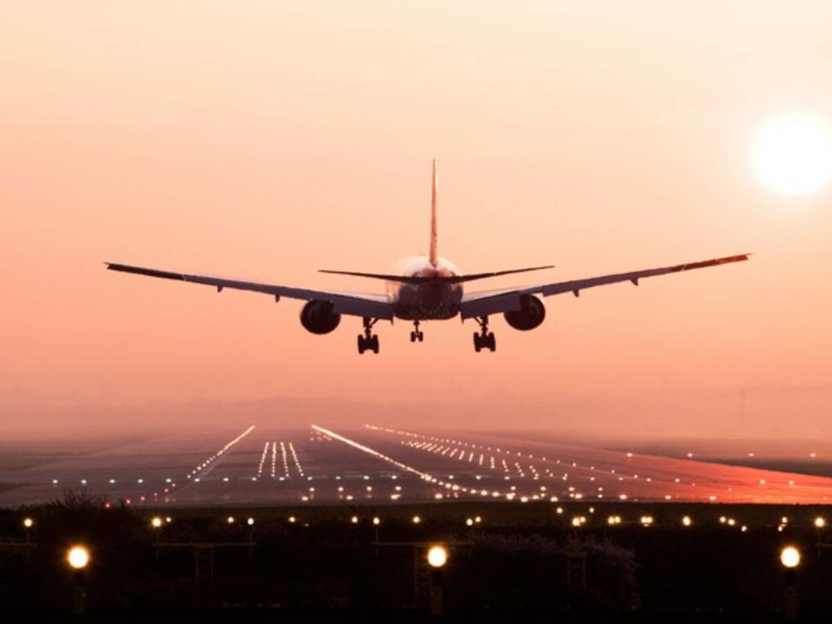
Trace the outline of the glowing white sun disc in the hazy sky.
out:
M 785 195 L 806 195 L 832 179 L 832 127 L 813 113 L 781 113 L 757 131 L 750 156 L 762 184 Z

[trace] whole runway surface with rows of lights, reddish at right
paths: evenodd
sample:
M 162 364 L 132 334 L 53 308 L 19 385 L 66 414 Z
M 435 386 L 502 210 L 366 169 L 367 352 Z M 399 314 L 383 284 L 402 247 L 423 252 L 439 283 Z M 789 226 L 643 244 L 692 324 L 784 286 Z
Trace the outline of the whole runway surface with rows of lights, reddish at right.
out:
M 443 500 L 830 503 L 832 478 L 537 441 L 366 424 L 177 434 L 27 467 L 0 465 L 0 506 L 67 489 L 134 506 Z M 830 498 L 828 498 L 830 497 Z

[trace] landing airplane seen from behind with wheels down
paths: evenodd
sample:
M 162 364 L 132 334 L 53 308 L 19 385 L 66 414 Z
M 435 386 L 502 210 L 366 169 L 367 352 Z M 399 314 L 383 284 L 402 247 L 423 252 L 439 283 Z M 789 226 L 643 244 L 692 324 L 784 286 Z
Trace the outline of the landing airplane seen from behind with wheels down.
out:
M 194 284 L 214 286 L 217 292 L 223 289 L 252 290 L 266 295 L 273 295 L 275 301 L 281 297 L 306 301 L 300 310 L 300 324 L 312 334 L 329 334 L 341 322 L 342 315 L 358 316 L 362 319 L 364 332 L 358 336 L 359 354 L 371 351 L 379 353 L 379 336 L 373 333 L 373 327 L 379 320 L 394 319 L 411 321 L 414 330 L 410 332 L 411 342 L 422 342 L 424 334 L 420 324 L 425 320 L 447 320 L 460 317 L 463 321 L 474 319 L 479 330 L 473 334 L 473 347 L 478 353 L 487 349 L 495 351 L 497 341 L 494 333 L 488 329 L 488 317 L 503 314 L 506 322 L 513 329 L 528 331 L 542 324 L 546 318 L 546 307 L 541 297 L 572 293 L 576 297 L 582 290 L 617 282 L 631 282 L 638 285 L 639 280 L 655 275 L 681 273 L 692 269 L 725 265 L 749 260 L 750 254 L 729 255 L 712 260 L 700 260 L 681 265 L 659 267 L 656 269 L 636 270 L 612 275 L 601 275 L 584 280 L 568 280 L 543 283 L 522 288 L 501 290 L 483 290 L 466 293 L 466 282 L 483 280 L 499 275 L 512 275 L 543 269 L 552 269 L 553 265 L 530 266 L 522 269 L 498 270 L 488 273 L 463 274 L 456 265 L 438 255 L 437 233 L 437 166 L 433 161 L 433 183 L 430 202 L 430 245 L 428 255 L 417 255 L 400 260 L 397 269 L 389 274 L 366 273 L 346 270 L 319 270 L 321 273 L 335 275 L 352 275 L 356 277 L 384 280 L 386 295 L 368 295 L 361 293 L 342 293 L 329 290 L 310 290 L 283 285 L 260 284 L 256 282 L 226 280 L 205 275 L 189 275 L 166 270 L 146 269 L 140 266 L 121 265 L 107 262 L 108 270 L 149 275 L 167 280 L 180 280 Z

